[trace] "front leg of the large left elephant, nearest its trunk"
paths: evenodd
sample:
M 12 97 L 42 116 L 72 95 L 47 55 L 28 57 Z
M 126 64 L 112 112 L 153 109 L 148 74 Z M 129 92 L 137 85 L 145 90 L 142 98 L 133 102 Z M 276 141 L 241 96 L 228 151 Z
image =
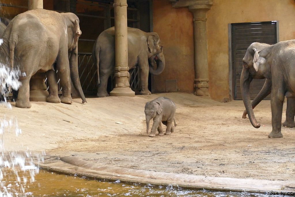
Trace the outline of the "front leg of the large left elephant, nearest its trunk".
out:
M 71 82 L 70 82 L 70 66 L 69 66 L 69 59 L 68 59 L 68 52 L 63 53 L 60 52 L 59 57 L 57 59 L 57 69 L 58 74 L 60 77 L 60 85 L 63 88 L 63 94 L 60 97 L 62 103 L 71 104 L 73 99 L 71 97 Z

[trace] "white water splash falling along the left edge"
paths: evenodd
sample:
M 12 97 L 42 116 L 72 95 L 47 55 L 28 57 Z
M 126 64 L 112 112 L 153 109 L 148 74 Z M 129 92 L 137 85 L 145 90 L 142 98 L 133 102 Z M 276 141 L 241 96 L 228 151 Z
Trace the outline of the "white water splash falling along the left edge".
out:
M 7 65 L 0 63 L 0 95 L 4 98 L 4 101 L 0 102 L 0 107 L 6 107 L 8 110 L 12 110 L 11 104 L 7 102 L 7 97 L 11 88 L 17 90 L 21 86 L 21 82 L 18 80 L 19 76 L 25 76 L 25 74 L 21 73 L 17 68 L 11 70 Z M 25 193 L 27 182 L 34 182 L 35 175 L 39 173 L 39 167 L 36 167 L 34 162 L 39 163 L 44 161 L 45 152 L 6 152 L 4 148 L 4 134 L 6 132 L 13 133 L 11 131 L 14 131 L 16 136 L 22 134 L 17 119 L 4 115 L 4 118 L 0 118 L 0 197 L 27 194 Z M 7 179 L 15 180 L 9 182 L 4 181 Z

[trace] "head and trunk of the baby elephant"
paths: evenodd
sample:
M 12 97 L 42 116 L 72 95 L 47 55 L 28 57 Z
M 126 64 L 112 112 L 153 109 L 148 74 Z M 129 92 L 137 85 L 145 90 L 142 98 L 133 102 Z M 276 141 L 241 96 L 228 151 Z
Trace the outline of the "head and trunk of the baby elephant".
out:
M 147 123 L 147 134 L 150 129 L 150 120 L 160 115 L 163 107 L 159 102 L 150 101 L 145 104 L 145 121 Z

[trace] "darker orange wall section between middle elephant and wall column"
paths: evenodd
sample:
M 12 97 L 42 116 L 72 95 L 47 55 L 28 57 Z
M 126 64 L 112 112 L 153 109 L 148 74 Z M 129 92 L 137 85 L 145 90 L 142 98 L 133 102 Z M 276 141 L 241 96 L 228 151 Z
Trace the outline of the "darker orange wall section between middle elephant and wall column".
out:
M 194 92 L 193 17 L 186 8 L 175 9 L 168 0 L 153 2 L 153 31 L 163 44 L 165 70 L 153 76 L 153 92 L 165 92 L 165 80 L 177 79 L 181 92 Z

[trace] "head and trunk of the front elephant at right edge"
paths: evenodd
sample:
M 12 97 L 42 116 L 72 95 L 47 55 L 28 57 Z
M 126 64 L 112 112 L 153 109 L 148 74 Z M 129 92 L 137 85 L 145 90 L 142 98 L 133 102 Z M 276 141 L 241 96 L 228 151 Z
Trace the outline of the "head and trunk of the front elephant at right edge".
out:
M 268 64 L 270 49 L 272 45 L 263 43 L 252 43 L 243 58 L 243 70 L 241 74 L 242 98 L 247 110 L 249 120 L 255 128 L 260 127 L 256 121 L 250 102 L 250 82 L 253 79 L 271 79 L 271 68 Z

